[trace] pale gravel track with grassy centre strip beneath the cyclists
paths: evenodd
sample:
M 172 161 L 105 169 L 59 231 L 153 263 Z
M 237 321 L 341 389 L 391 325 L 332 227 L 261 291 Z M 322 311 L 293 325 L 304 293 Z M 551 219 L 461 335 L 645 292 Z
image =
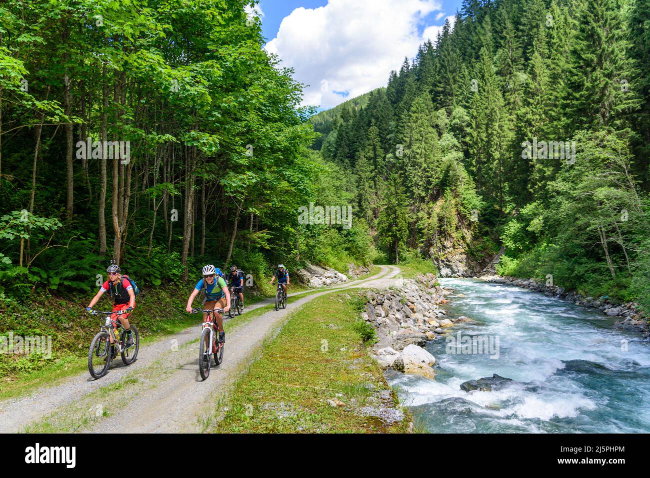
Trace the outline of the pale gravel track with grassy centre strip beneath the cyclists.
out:
M 39 421 L 47 427 L 36 427 L 37 431 L 106 432 L 107 427 L 118 429 L 125 421 L 130 433 L 202 431 L 209 425 L 220 397 L 246 369 L 264 340 L 279 331 L 289 312 L 336 290 L 390 285 L 399 269 L 380 267 L 381 271 L 368 279 L 324 288 L 278 312 L 271 310 L 247 320 L 248 312 L 274 299 L 247 307 L 236 320 L 240 323 L 227 333 L 224 361 L 211 368 L 205 381 L 198 371 L 198 320 L 195 327 L 141 346 L 138 360 L 129 367 L 114 360 L 109 373 L 99 380 L 83 373 L 25 397 L 0 402 L 0 432 L 16 433 Z M 289 296 L 301 294 L 305 292 Z

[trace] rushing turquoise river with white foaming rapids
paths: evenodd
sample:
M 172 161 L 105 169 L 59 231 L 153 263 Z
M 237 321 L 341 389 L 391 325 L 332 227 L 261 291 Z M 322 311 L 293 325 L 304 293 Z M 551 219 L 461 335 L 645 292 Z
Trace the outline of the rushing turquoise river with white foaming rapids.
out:
M 650 432 L 650 344 L 614 318 L 539 292 L 471 279 L 456 289 L 448 317 L 474 320 L 448 329 L 499 347 L 462 351 L 443 337 L 428 342 L 435 381 L 387 373 L 400 401 L 434 433 Z M 487 348 L 487 347 L 486 347 Z M 467 351 L 467 350 L 466 350 Z M 498 352 L 498 358 L 497 353 Z M 495 357 L 495 358 L 491 358 Z M 512 382 L 490 392 L 460 384 L 497 373 Z

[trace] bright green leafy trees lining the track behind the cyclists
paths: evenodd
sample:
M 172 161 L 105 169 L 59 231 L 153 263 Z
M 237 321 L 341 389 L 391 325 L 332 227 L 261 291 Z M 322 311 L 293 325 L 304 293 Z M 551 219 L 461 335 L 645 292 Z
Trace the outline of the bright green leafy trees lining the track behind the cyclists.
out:
M 0 297 L 96 290 L 111 258 L 144 286 L 369 260 L 363 224 L 298 224 L 348 199 L 249 4 L 0 4 Z

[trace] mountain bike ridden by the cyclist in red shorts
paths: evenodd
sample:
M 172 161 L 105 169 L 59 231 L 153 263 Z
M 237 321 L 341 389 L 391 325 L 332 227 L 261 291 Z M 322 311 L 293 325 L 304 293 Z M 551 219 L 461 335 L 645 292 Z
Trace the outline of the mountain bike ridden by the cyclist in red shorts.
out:
M 94 316 L 106 316 L 104 325 L 101 330 L 96 334 L 90 343 L 88 350 L 88 371 L 90 376 L 94 379 L 100 379 L 106 375 L 112 359 L 117 357 L 119 353 L 122 355 L 122 362 L 124 365 L 131 365 L 138 357 L 138 350 L 140 350 L 140 334 L 138 327 L 131 324 L 131 331 L 133 331 L 133 344 L 126 347 L 127 333 L 122 323 L 118 320 L 113 320 L 112 315 L 126 314 L 123 310 L 116 312 L 101 312 L 99 310 L 91 310 L 88 313 Z M 110 343 L 110 338 L 113 343 Z

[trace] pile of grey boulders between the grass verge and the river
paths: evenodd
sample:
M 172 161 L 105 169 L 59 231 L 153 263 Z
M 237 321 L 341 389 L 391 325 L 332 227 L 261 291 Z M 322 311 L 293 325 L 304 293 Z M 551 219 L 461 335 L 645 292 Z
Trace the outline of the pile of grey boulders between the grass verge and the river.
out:
M 427 340 L 435 340 L 455 322 L 466 317 L 448 319 L 440 305 L 447 303 L 443 288 L 435 275 L 402 279 L 395 286 L 380 292 L 366 292 L 367 303 L 361 318 L 376 330 L 378 342 L 370 355 L 383 369 L 394 368 L 434 379 L 435 357 L 424 349 Z

